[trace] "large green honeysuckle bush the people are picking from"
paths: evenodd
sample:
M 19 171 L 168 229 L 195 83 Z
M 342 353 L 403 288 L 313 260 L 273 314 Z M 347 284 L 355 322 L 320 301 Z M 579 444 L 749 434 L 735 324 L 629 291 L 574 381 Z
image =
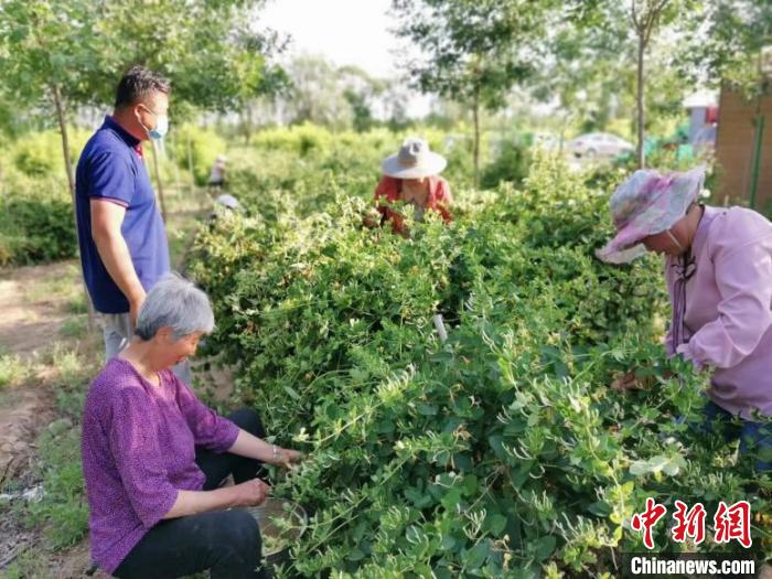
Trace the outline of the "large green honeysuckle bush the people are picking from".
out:
M 661 262 L 593 257 L 608 194 L 585 176 L 540 160 L 518 191 L 459 193 L 449 226 L 408 218 L 407 239 L 363 227 L 368 204 L 331 180 L 315 213 L 288 191 L 223 216 L 190 269 L 214 301 L 206 349 L 308 453 L 275 484 L 311 514 L 283 573 L 616 576 L 648 496 L 711 516 L 755 484 L 769 512 L 736 448 L 687 426 L 707 377 L 658 343 Z M 612 390 L 630 368 L 648 386 Z M 668 526 L 660 550 L 680 548 Z

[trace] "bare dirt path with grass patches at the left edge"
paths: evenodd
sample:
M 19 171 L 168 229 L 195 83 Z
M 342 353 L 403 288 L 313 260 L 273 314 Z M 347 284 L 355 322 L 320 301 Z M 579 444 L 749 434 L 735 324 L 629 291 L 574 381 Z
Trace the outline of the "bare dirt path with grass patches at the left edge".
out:
M 55 387 L 62 376 L 56 362 L 85 343 L 79 276 L 75 260 L 0 271 L 0 493 L 18 495 L 40 485 L 37 440 L 58 418 Z M 31 565 L 35 576 L 84 577 L 90 565 L 86 543 L 40 560 L 45 557 L 41 542 L 42 529 L 3 516 L 0 568 L 36 553 L 39 560 Z

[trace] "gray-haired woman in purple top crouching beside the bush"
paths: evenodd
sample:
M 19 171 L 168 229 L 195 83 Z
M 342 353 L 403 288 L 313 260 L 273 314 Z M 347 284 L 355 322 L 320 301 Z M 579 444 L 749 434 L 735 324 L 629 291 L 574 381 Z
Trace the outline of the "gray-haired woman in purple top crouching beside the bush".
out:
M 92 556 L 116 577 L 265 577 L 253 516 L 262 463 L 294 450 L 265 442 L 249 409 L 218 416 L 171 367 L 214 328 L 208 298 L 168 276 L 148 293 L 130 345 L 107 362 L 84 409 L 83 471 Z M 233 474 L 235 485 L 219 487 Z

